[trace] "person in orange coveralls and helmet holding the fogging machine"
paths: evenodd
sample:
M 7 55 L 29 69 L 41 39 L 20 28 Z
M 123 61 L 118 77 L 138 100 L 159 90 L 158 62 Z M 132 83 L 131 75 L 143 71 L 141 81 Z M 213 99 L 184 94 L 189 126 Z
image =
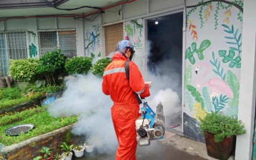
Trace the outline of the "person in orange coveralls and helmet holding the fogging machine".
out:
M 131 60 L 134 50 L 133 44 L 128 40 L 118 42 L 112 62 L 105 68 L 102 81 L 102 91 L 110 95 L 114 102 L 111 108 L 112 122 L 119 146 L 116 159 L 136 159 L 136 126 L 134 121 L 139 116 L 139 104 L 136 94 L 149 97 L 149 88 L 152 82 L 144 82 L 138 66 L 129 63 L 130 82 L 125 74 L 125 62 Z

